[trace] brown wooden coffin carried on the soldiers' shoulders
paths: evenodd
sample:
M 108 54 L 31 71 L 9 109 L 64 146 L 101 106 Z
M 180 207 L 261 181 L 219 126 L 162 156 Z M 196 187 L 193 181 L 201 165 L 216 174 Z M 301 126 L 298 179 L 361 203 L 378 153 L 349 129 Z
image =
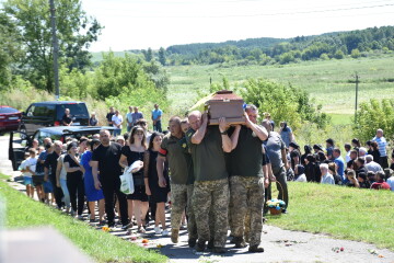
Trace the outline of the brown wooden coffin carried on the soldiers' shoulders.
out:
M 225 117 L 228 124 L 244 124 L 243 105 L 243 99 L 232 91 L 218 91 L 206 102 L 209 125 L 218 125 L 220 117 Z

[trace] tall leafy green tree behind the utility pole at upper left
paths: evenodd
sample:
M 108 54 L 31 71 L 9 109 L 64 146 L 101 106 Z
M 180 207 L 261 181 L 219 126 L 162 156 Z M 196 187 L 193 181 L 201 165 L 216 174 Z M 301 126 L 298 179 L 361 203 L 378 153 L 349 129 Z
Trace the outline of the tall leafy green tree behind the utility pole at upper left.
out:
M 90 65 L 86 50 L 97 39 L 102 26 L 88 16 L 80 0 L 55 2 L 59 61 L 69 70 Z M 53 42 L 47 0 L 8 0 L 4 12 L 22 34 L 25 56 L 20 60 L 24 76 L 37 88 L 54 91 Z

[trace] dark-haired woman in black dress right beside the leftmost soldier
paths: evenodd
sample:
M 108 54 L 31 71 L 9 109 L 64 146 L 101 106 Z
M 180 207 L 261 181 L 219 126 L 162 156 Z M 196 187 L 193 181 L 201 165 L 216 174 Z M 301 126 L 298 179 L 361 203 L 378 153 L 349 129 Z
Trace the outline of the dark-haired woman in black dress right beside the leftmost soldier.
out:
M 161 142 L 163 140 L 163 135 L 159 133 L 153 133 L 150 137 L 149 147 L 146 151 L 143 158 L 144 164 L 144 185 L 147 195 L 150 196 L 150 201 L 157 204 L 155 218 L 154 218 L 154 232 L 157 235 L 169 236 L 169 230 L 165 226 L 165 202 L 167 201 L 167 194 L 170 192 L 169 186 L 160 187 L 159 186 L 159 175 L 157 169 L 157 159 L 160 150 Z M 169 167 L 165 163 L 164 178 L 166 180 L 166 185 L 170 185 L 169 180 Z M 163 231 L 161 231 L 159 224 L 161 222 Z

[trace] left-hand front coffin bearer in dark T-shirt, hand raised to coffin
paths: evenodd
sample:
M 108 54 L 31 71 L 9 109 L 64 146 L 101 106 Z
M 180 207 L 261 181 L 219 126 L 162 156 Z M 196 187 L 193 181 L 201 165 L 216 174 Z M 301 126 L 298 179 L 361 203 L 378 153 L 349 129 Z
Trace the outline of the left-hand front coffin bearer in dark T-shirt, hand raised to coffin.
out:
M 201 116 L 197 111 L 189 114 L 188 121 L 190 129 L 186 133 L 186 140 L 195 172 L 192 205 L 198 233 L 196 250 L 204 251 L 206 242 L 212 240 L 212 252 L 224 253 L 229 206 L 229 175 L 224 152 L 231 151 L 232 142 L 227 134 L 224 118 L 219 119 L 219 128 L 208 126 L 207 115 Z

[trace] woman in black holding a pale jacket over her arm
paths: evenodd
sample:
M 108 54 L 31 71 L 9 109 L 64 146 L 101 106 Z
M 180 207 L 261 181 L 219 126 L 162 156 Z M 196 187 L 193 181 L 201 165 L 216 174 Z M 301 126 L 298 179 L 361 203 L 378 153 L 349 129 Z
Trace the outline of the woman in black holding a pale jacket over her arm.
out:
M 135 126 L 131 129 L 129 137 L 129 145 L 121 148 L 121 156 L 119 164 L 123 168 L 131 165 L 135 161 L 143 161 L 143 153 L 147 150 L 144 132 L 140 126 Z M 143 182 L 143 169 L 142 164 L 132 173 L 132 180 L 135 185 L 135 192 L 127 195 L 128 215 L 132 218 L 132 214 L 136 216 L 138 232 L 144 233 L 143 228 L 149 203 L 148 195 L 146 194 Z M 134 211 L 134 213 L 132 213 Z

